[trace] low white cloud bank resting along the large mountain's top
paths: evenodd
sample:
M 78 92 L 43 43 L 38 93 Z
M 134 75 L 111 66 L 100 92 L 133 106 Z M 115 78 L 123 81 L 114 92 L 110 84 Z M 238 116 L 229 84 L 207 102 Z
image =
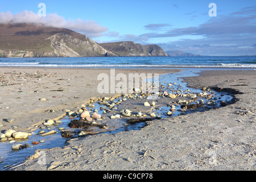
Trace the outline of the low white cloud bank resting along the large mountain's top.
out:
M 105 31 L 108 31 L 108 28 L 100 26 L 93 20 L 66 20 L 63 16 L 57 14 L 48 14 L 44 17 L 27 10 L 17 14 L 12 14 L 10 11 L 0 12 L 0 23 L 36 23 L 51 27 L 69 28 L 90 38 L 102 36 Z

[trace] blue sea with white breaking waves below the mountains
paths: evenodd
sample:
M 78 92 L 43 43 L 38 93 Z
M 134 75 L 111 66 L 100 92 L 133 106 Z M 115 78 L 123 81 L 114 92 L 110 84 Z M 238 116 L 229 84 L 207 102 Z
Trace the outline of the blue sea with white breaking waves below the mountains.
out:
M 256 56 L 22 57 L 0 58 L 0 67 L 60 68 L 256 68 Z

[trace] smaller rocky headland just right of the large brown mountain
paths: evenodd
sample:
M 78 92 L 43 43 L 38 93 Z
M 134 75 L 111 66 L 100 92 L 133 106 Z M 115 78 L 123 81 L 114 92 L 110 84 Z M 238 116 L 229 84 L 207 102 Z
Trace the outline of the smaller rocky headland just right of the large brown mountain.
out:
M 100 45 L 118 56 L 168 56 L 157 45 L 142 46 L 133 41 L 101 43 Z

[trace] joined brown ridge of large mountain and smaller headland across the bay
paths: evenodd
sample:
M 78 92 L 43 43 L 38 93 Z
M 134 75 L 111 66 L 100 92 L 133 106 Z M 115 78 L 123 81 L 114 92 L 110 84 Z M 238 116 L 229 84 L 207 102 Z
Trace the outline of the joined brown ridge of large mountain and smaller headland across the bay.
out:
M 98 44 L 67 28 L 43 24 L 0 24 L 0 57 L 167 56 L 156 45 Z

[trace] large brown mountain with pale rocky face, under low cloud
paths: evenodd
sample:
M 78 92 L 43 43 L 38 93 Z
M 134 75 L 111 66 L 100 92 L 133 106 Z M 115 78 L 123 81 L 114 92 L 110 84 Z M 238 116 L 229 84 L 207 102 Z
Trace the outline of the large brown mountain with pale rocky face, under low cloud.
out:
M 0 57 L 117 56 L 67 28 L 38 24 L 0 24 Z

